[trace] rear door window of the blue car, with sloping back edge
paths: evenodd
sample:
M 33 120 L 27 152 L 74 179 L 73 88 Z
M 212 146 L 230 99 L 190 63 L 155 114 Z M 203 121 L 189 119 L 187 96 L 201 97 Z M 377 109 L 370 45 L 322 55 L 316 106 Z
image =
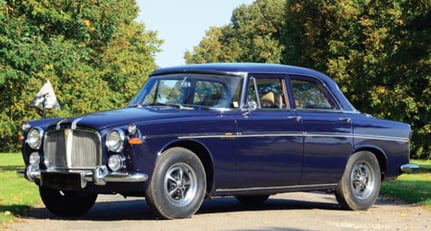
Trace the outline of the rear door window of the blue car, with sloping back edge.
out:
M 317 82 L 294 79 L 291 81 L 295 106 L 298 109 L 335 109 L 326 89 Z

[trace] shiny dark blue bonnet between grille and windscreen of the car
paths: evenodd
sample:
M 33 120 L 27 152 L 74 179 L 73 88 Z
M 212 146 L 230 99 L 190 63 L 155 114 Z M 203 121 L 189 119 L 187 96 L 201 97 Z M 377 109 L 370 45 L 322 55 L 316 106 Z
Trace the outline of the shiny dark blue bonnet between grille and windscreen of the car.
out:
M 131 122 L 140 123 L 153 120 L 181 118 L 190 116 L 203 116 L 210 113 L 201 110 L 181 110 L 167 108 L 125 108 L 112 111 L 96 112 L 87 115 L 81 115 L 66 120 L 61 120 L 61 126 L 79 126 L 90 127 L 96 130 L 102 130 L 109 127 L 127 125 Z

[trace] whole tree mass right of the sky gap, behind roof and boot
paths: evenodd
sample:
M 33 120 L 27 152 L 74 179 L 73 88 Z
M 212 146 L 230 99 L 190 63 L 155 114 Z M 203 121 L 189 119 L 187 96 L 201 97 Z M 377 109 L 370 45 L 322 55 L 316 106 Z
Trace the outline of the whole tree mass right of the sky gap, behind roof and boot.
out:
M 409 123 L 412 157 L 431 158 L 430 0 L 257 0 L 185 59 L 317 69 L 360 111 Z

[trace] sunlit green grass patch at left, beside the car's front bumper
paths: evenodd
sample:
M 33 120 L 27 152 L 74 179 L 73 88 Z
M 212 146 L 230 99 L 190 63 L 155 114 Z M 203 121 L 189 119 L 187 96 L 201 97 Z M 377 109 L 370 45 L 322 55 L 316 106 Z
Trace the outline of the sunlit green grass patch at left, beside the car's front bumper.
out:
M 21 154 L 0 153 L 0 229 L 40 203 L 36 185 L 16 175 L 23 168 Z

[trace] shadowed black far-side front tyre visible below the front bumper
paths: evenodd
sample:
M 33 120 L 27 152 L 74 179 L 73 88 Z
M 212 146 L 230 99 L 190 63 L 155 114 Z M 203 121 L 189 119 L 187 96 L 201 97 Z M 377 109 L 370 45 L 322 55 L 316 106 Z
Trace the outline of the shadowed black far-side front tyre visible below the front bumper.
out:
M 39 187 L 45 207 L 60 217 L 75 217 L 85 214 L 97 199 L 97 194 L 74 191 L 59 191 Z

